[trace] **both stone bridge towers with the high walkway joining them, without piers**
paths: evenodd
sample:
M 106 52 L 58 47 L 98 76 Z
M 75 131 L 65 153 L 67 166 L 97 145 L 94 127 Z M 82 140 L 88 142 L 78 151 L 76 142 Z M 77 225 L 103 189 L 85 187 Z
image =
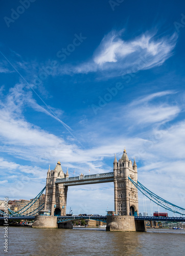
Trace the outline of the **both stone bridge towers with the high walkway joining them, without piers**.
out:
M 113 161 L 113 172 L 93 175 L 79 175 L 69 177 L 68 170 L 63 173 L 61 163 L 58 161 L 54 170 L 48 170 L 45 188 L 45 211 L 51 211 L 51 215 L 66 214 L 66 200 L 68 186 L 95 184 L 104 182 L 114 183 L 114 211 L 115 215 L 138 215 L 137 188 L 129 181 L 132 178 L 137 182 L 137 165 L 134 159 L 132 163 L 124 150 L 121 159 L 116 156 Z M 56 207 L 54 207 L 56 206 Z

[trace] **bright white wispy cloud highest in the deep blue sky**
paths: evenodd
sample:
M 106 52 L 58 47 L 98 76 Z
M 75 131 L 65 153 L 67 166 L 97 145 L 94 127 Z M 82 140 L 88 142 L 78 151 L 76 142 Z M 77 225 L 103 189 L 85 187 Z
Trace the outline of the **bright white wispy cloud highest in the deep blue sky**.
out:
M 123 30 L 111 31 L 102 39 L 94 56 L 79 66 L 62 67 L 64 73 L 102 72 L 106 76 L 121 76 L 132 69 L 146 70 L 164 63 L 173 54 L 177 34 L 158 39 L 146 32 L 132 40 L 123 39 Z

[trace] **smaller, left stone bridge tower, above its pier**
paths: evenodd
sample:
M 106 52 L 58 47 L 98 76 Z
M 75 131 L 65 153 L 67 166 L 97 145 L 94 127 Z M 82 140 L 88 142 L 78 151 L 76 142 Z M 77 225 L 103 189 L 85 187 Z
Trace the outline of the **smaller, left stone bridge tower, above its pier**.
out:
M 68 170 L 66 174 L 63 173 L 60 162 L 56 164 L 54 170 L 48 170 L 47 183 L 45 187 L 45 211 L 51 211 L 51 216 L 65 215 L 66 214 L 66 202 L 67 202 L 67 186 L 63 184 L 55 184 L 56 179 L 67 178 Z

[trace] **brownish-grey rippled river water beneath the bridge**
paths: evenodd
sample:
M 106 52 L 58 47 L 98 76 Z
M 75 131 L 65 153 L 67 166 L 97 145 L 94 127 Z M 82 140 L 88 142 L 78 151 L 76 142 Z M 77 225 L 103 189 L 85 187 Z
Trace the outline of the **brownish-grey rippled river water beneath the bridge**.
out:
M 0 255 L 184 255 L 185 230 L 106 232 L 98 228 L 8 228 L 8 253 L 0 227 Z

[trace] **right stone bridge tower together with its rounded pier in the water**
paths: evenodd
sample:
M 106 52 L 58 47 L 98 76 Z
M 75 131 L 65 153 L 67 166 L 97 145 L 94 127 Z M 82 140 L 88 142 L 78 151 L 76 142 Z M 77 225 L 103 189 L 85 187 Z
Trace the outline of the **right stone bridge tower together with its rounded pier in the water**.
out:
M 114 215 L 107 216 L 107 231 L 146 231 L 145 221 L 136 221 L 138 215 L 138 191 L 128 179 L 137 182 L 137 165 L 129 160 L 126 150 L 119 161 L 113 161 Z

